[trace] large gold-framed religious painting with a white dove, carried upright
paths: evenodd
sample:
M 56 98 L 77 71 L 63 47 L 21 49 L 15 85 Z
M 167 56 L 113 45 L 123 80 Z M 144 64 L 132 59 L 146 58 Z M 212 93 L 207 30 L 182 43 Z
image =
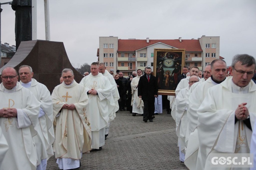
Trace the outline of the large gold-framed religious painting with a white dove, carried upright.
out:
M 154 76 L 158 94 L 175 96 L 178 76 L 185 65 L 185 49 L 154 49 Z

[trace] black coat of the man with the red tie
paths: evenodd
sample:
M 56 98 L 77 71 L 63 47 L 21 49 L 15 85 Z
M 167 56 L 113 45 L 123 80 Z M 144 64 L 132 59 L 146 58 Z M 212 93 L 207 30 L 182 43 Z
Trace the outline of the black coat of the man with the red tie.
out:
M 154 100 L 154 95 L 157 95 L 157 79 L 154 75 L 150 75 L 150 82 L 147 80 L 146 74 L 140 77 L 138 83 L 138 96 L 142 96 L 142 100 Z

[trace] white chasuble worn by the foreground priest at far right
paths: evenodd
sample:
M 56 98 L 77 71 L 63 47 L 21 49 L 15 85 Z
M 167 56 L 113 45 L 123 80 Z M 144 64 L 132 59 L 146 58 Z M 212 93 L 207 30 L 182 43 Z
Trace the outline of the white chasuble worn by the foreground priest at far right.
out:
M 234 111 L 238 104 L 247 102 L 253 129 L 256 85 L 251 81 L 246 94 L 233 93 L 231 86 L 232 77 L 228 77 L 221 84 L 211 87 L 198 109 L 198 169 L 209 168 L 210 153 L 244 153 L 250 147 L 252 131 L 240 121 L 234 123 Z

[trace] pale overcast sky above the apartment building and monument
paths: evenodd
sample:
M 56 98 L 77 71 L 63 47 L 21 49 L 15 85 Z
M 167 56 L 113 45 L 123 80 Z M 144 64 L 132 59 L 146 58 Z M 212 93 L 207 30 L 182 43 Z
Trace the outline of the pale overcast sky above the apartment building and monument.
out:
M 45 40 L 43 2 L 37 0 L 37 39 Z M 15 45 L 15 11 L 1 8 L 1 43 Z M 97 61 L 100 36 L 220 36 L 220 55 L 230 65 L 236 54 L 256 56 L 255 9 L 255 0 L 49 0 L 51 41 L 63 42 L 72 65 L 80 67 Z

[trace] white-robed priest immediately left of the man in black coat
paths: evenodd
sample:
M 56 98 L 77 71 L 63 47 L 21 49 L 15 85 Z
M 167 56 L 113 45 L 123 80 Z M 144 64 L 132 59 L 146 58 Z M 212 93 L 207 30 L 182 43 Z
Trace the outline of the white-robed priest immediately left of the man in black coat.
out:
M 142 70 L 138 69 L 137 76 L 134 77 L 131 81 L 132 116 L 136 116 L 136 114 L 140 114 L 140 115 L 143 114 L 144 103 L 143 103 L 143 100 L 141 100 L 141 98 L 138 97 L 138 84 L 141 76 L 142 76 Z

